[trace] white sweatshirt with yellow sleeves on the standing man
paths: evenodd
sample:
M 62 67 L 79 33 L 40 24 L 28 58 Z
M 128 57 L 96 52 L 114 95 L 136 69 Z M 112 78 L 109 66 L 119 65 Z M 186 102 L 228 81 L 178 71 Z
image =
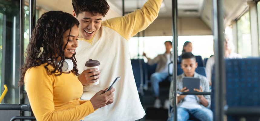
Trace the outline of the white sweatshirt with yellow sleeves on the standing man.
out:
M 98 85 L 86 85 L 82 100 L 89 100 L 95 93 L 114 86 L 114 103 L 104 106 L 85 117 L 87 121 L 134 121 L 143 118 L 145 112 L 140 103 L 130 61 L 128 40 L 147 28 L 157 18 L 163 0 L 148 0 L 141 9 L 126 16 L 102 21 L 101 28 L 91 40 L 80 39 L 76 49 L 79 74 L 86 70 L 89 59 L 100 62 Z

